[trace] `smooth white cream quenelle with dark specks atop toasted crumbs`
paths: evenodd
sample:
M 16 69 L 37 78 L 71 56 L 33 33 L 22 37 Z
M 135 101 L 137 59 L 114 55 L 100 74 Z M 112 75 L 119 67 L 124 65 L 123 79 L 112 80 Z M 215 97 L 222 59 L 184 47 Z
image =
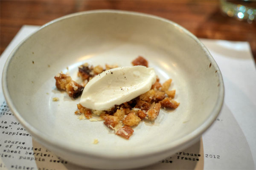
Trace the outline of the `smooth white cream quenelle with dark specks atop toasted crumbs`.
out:
M 153 68 L 140 65 L 113 68 L 87 83 L 80 104 L 93 110 L 108 110 L 149 91 L 155 81 Z

